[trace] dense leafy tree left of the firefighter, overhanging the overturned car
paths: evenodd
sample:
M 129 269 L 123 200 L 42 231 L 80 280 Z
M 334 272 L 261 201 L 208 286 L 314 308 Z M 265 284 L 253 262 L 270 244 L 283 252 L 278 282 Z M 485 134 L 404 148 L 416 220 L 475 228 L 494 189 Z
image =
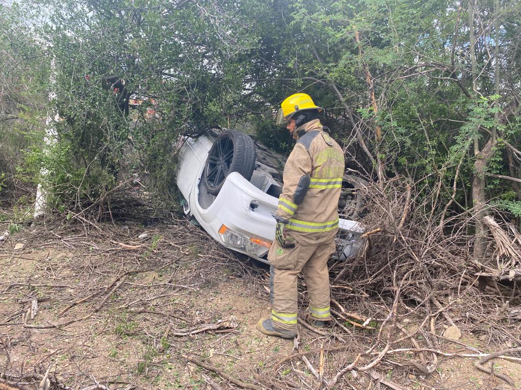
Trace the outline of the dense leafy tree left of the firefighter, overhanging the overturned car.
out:
M 50 3 L 44 34 L 61 121 L 47 165 L 64 198 L 101 197 L 123 171 L 150 172 L 168 189 L 178 135 L 233 113 L 242 92 L 237 58 L 255 42 L 238 15 L 253 4 Z M 129 115 L 127 97 L 140 102 Z M 147 119 L 151 112 L 155 120 Z M 67 155 L 75 158 L 61 158 Z

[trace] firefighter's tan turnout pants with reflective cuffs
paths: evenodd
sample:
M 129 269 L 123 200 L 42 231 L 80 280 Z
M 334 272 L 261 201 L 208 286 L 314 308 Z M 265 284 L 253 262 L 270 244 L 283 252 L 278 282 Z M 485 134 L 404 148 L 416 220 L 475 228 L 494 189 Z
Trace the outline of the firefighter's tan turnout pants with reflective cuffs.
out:
M 335 250 L 334 240 L 318 246 L 296 242 L 294 248 L 282 248 L 274 241 L 268 253 L 274 327 L 288 331 L 297 329 L 297 275 L 302 270 L 309 296 L 309 315 L 322 321 L 331 319 L 327 261 Z

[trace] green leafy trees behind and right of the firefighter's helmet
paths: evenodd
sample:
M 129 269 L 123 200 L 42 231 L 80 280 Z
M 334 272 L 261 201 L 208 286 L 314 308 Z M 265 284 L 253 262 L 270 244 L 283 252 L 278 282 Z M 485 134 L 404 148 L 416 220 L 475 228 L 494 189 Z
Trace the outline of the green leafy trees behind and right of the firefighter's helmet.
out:
M 521 80 L 512 66 L 519 3 L 279 1 L 274 8 L 279 46 L 263 53 L 263 45 L 258 56 L 269 64 L 252 68 L 272 103 L 275 91 L 306 90 L 329 109 L 330 127 L 346 144 L 356 139 L 353 155 L 379 183 L 397 174 L 424 179 L 440 186 L 433 207 L 474 206 L 482 257 L 488 200 L 512 189 L 521 199 Z

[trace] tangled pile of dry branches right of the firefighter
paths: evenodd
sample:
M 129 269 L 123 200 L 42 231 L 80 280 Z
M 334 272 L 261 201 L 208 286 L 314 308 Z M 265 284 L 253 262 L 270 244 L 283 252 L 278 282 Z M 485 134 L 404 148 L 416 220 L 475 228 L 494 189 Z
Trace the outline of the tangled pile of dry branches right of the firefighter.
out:
M 439 191 L 404 178 L 359 190 L 367 202 L 367 242 L 356 259 L 331 267 L 332 296 L 341 306 L 383 321 L 396 339 L 396 321 L 412 315 L 421 322 L 416 332 L 456 327 L 499 345 L 518 342 L 521 241 L 514 226 L 505 230 L 486 217 L 487 258 L 478 262 L 467 232 L 472 214 L 451 214 Z

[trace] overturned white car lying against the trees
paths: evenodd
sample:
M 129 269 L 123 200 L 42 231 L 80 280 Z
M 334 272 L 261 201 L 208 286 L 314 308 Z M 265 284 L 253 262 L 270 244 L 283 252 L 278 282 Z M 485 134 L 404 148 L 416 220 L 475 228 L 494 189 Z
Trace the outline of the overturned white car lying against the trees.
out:
M 184 213 L 227 248 L 268 263 L 284 157 L 248 135 L 216 129 L 181 138 L 178 154 L 177 186 L 184 197 Z M 348 219 L 363 209 L 363 198 L 356 191 L 360 185 L 364 180 L 344 176 L 333 255 L 340 260 L 353 257 L 362 245 L 363 227 Z

